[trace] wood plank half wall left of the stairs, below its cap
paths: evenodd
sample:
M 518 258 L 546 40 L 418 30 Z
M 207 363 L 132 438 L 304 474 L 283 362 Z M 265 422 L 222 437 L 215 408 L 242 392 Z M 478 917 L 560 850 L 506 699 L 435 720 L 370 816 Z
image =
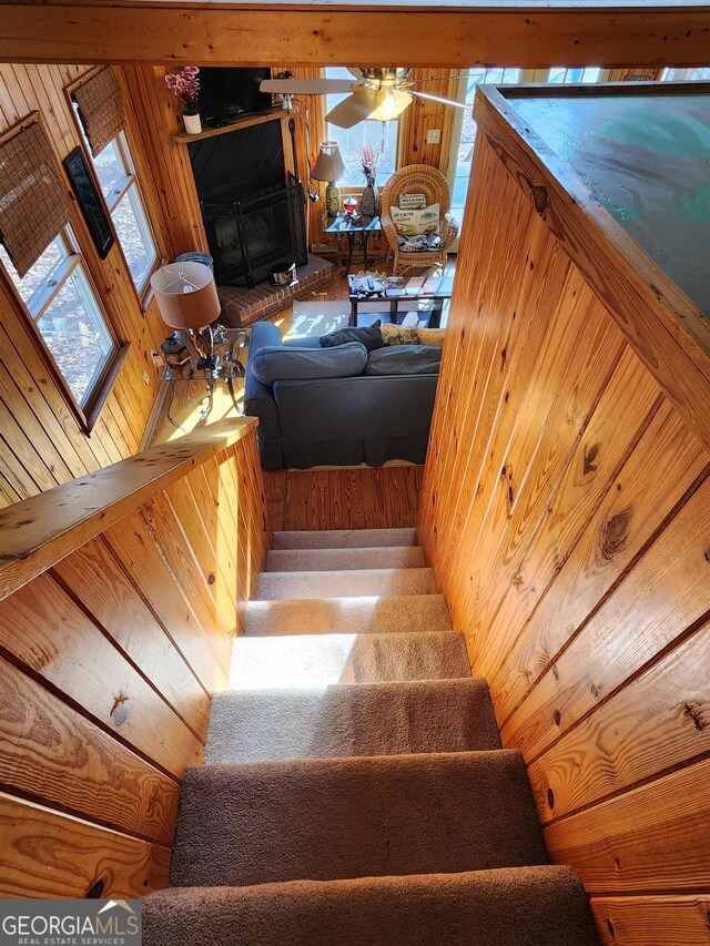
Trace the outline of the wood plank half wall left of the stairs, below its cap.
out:
M 270 531 L 252 428 L 0 602 L 0 897 L 166 886 Z

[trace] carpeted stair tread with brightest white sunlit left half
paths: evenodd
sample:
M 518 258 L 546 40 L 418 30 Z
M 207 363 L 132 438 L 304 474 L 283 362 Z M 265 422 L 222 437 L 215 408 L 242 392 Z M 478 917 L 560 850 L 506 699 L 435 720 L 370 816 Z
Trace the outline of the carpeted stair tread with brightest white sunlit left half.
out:
M 237 638 L 229 689 L 260 690 L 470 677 L 464 635 L 292 634 Z

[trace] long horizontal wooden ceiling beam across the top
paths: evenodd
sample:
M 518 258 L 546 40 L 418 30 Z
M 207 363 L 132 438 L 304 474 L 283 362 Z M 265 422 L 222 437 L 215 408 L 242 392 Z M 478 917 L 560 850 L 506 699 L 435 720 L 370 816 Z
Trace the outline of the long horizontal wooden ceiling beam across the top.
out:
M 2 4 L 0 61 L 357 64 L 373 38 L 412 67 L 707 65 L 710 6 L 688 0 L 381 3 L 49 0 Z

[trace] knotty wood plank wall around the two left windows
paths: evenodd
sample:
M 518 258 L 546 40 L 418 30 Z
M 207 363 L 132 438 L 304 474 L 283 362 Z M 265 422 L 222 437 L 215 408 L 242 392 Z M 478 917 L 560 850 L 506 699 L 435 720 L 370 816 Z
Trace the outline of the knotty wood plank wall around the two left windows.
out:
M 85 71 L 83 65 L 0 65 L 0 132 L 39 111 L 61 162 L 80 143 L 64 89 Z M 168 258 L 172 244 L 161 197 L 130 104 L 126 134 L 159 252 Z M 155 303 L 143 311 L 118 242 L 104 261 L 99 258 L 75 205 L 72 226 L 115 334 L 131 347 L 87 436 L 39 354 L 23 306 L 0 274 L 0 507 L 134 454 L 158 394 L 150 352 L 166 333 Z

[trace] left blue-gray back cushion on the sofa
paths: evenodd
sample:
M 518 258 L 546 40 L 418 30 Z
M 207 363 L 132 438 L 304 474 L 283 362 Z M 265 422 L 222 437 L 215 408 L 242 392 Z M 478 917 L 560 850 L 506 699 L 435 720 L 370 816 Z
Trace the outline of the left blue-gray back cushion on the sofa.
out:
M 250 367 L 264 385 L 277 380 L 311 378 L 348 378 L 362 375 L 367 364 L 367 349 L 359 342 L 335 348 L 262 348 L 250 359 Z

